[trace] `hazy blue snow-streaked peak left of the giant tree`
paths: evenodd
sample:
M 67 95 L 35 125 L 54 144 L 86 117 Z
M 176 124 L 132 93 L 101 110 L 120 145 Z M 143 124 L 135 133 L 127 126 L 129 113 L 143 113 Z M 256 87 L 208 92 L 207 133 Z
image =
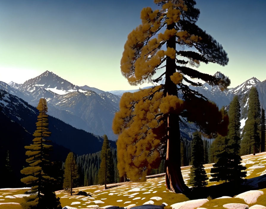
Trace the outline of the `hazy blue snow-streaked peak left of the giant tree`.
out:
M 112 122 L 118 111 L 119 96 L 88 86 L 79 87 L 49 71 L 23 84 L 9 84 L 9 88 L 20 93 L 14 95 L 33 106 L 41 97 L 46 98 L 51 116 L 75 128 L 100 136 L 107 134 L 109 139 L 116 140 Z

